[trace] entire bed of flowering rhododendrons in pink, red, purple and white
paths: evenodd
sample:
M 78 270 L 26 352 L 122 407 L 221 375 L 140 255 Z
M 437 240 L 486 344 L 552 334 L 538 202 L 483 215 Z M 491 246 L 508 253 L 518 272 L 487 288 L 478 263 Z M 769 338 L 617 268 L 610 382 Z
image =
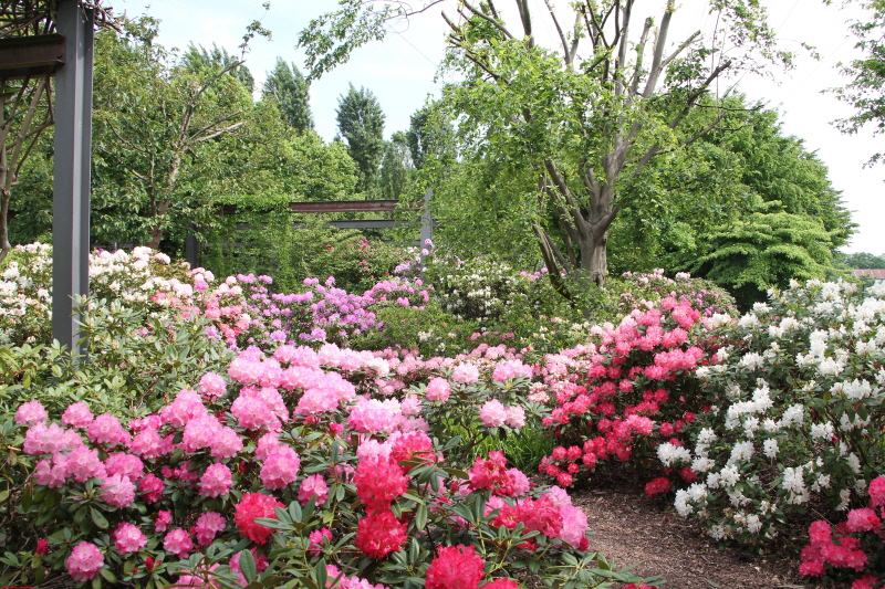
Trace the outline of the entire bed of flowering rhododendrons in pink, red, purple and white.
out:
M 391 267 L 362 293 L 95 251 L 80 360 L 48 333 L 51 246 L 17 246 L 0 583 L 659 586 L 594 548 L 574 497 L 615 482 L 711 545 L 801 528 L 785 577 L 881 587 L 885 284 L 740 314 L 656 271 L 586 314 L 543 269 L 365 243 Z

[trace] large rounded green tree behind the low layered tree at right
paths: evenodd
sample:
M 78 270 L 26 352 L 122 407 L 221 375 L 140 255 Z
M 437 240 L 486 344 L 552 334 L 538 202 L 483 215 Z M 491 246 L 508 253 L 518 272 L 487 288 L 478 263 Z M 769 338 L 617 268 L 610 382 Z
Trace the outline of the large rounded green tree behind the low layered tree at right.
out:
M 646 186 L 646 199 L 667 206 L 645 221 L 629 209 L 616 221 L 613 255 L 618 270 L 652 264 L 689 270 L 710 253 L 710 233 L 747 217 L 758 208 L 756 202 L 777 201 L 785 213 L 820 221 L 831 253 L 854 233 L 856 224 L 826 166 L 802 139 L 783 134 L 777 112 L 747 105 L 740 95 L 719 106 L 729 111 L 723 127 L 686 149 L 689 165 L 653 162 L 657 182 Z

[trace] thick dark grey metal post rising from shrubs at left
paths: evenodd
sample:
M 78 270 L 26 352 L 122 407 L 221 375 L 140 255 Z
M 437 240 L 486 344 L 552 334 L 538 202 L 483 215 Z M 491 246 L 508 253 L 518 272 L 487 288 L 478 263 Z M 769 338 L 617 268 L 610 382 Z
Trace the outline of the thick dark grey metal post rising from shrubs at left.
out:
M 65 63 L 55 73 L 55 162 L 52 199 L 52 336 L 79 355 L 73 296 L 88 294 L 92 67 L 95 12 L 60 0 L 55 29 Z

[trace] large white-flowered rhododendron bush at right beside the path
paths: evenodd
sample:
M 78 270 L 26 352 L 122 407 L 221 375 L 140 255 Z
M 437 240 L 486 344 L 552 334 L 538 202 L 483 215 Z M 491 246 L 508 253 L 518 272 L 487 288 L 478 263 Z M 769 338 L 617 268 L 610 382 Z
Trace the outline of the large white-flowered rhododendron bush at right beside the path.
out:
M 699 480 L 677 492 L 676 511 L 712 537 L 756 541 L 813 496 L 847 508 L 873 475 L 860 450 L 883 443 L 885 282 L 865 292 L 793 282 L 739 320 L 705 327 L 730 345 L 697 371 L 711 409 L 691 451 Z M 669 448 L 658 457 L 676 463 Z

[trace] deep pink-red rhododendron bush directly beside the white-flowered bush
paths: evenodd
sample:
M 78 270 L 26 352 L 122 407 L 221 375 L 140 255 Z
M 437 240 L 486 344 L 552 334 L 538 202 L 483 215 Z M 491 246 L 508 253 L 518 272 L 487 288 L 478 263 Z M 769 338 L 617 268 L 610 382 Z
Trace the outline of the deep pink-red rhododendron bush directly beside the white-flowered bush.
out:
M 616 327 L 594 327 L 594 344 L 548 356 L 539 368 L 543 385 L 533 386 L 531 398 L 555 400 L 543 424 L 569 443 L 545 456 L 540 472 L 569 486 L 600 462 L 631 460 L 637 438 L 653 439 L 641 448 L 658 440 L 680 445 L 674 437 L 699 408 L 668 389 L 679 374 L 712 361 L 715 349 L 696 344 L 704 336 L 700 315 L 689 299 L 665 297 L 659 306 L 634 309 Z M 648 492 L 664 493 L 666 486 L 656 480 Z

